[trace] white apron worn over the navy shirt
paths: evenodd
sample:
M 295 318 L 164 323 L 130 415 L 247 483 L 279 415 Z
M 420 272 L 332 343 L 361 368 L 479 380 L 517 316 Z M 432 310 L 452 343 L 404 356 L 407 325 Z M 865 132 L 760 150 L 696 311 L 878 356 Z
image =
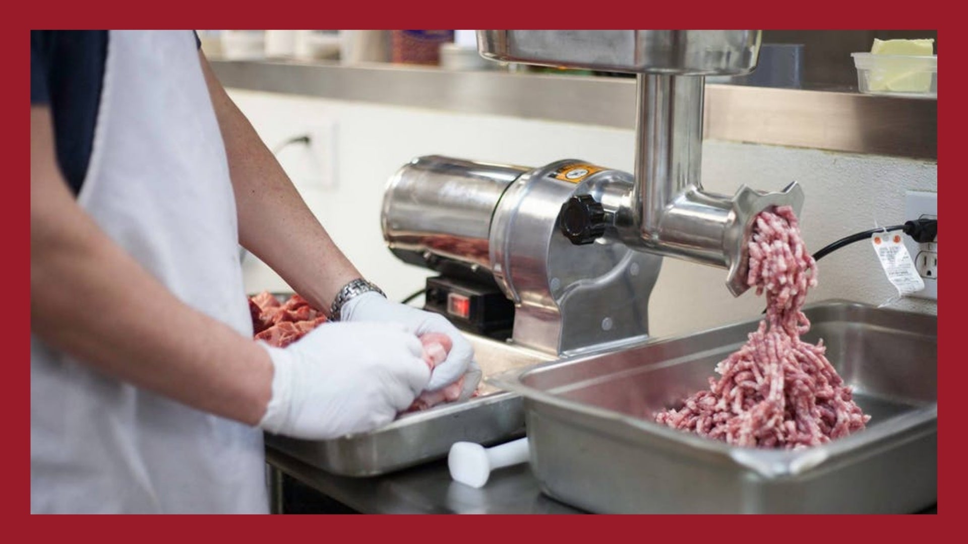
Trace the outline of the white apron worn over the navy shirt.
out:
M 180 300 L 252 336 L 225 147 L 191 32 L 110 31 L 77 201 Z M 264 513 L 262 435 L 32 335 L 30 508 Z

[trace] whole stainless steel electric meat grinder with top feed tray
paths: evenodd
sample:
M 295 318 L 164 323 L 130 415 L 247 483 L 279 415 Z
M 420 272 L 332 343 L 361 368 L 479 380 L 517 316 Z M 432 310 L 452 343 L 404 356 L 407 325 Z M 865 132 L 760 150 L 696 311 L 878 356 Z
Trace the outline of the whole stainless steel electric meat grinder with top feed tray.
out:
M 441 274 L 428 308 L 459 324 L 505 319 L 514 343 L 565 355 L 648 337 L 662 257 L 725 268 L 726 287 L 746 290 L 756 215 L 799 213 L 802 189 L 705 191 L 703 94 L 705 76 L 756 67 L 760 31 L 478 30 L 477 44 L 495 61 L 635 74 L 635 171 L 440 156 L 403 166 L 384 195 L 383 236 L 397 257 Z

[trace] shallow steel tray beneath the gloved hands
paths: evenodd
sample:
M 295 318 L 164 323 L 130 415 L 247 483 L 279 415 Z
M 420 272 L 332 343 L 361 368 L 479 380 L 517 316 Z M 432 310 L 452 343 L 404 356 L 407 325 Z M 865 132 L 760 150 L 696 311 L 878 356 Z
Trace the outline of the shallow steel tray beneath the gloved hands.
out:
M 404 414 L 376 431 L 342 438 L 302 440 L 266 434 L 266 447 L 335 474 L 375 476 L 445 457 L 456 441 L 491 444 L 523 436 L 521 397 L 484 379 L 553 357 L 487 338 L 468 335 L 468 339 L 483 372 L 481 396 Z

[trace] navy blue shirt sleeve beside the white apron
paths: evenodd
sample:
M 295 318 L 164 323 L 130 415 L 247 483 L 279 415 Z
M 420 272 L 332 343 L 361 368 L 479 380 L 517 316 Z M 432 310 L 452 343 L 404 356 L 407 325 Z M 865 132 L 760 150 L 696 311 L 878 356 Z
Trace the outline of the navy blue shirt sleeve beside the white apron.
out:
M 107 36 L 106 30 L 30 31 L 30 104 L 50 107 L 57 165 L 75 195 L 91 159 Z

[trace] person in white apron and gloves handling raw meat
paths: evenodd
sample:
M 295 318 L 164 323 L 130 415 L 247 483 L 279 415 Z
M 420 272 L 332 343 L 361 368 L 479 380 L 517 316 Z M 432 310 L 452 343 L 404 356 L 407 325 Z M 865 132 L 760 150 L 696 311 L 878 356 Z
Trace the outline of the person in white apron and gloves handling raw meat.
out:
M 51 113 L 71 87 L 34 100 L 31 40 L 32 512 L 266 512 L 263 430 L 334 438 L 476 386 L 452 325 L 360 279 L 190 31 L 109 31 L 76 198 Z M 254 342 L 240 242 L 343 322 Z M 427 332 L 454 341 L 433 374 Z

